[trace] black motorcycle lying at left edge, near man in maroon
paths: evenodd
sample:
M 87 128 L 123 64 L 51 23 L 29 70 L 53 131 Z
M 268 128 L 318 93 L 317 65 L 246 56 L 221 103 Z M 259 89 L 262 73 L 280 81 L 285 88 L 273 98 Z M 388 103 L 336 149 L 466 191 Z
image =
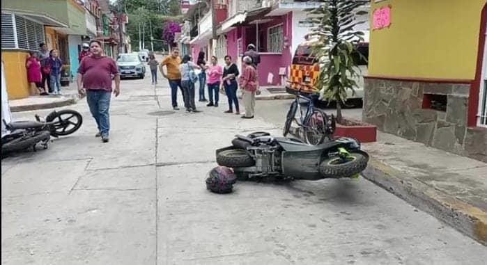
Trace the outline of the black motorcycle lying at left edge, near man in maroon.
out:
M 82 123 L 82 115 L 70 109 L 52 111 L 45 119 L 36 115 L 36 121 L 7 123 L 3 120 L 3 124 L 9 132 L 1 137 L 1 153 L 19 152 L 30 147 L 36 151 L 38 143 L 47 149 L 51 136 L 57 138 L 72 134 L 81 127 Z

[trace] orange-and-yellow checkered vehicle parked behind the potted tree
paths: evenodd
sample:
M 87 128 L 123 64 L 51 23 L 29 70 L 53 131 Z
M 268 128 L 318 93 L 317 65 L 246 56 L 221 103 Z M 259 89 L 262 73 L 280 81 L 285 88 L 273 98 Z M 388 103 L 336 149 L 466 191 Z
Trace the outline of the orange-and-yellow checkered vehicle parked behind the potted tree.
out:
M 312 42 L 303 42 L 300 44 L 293 56 L 293 63 L 291 65 L 291 72 L 289 74 L 288 86 L 286 86 L 286 92 L 290 94 L 302 95 L 317 95 L 320 88 L 315 86 L 320 73 L 320 64 L 318 59 L 311 54 Z M 369 58 L 369 43 L 362 42 L 358 45 L 357 49 L 368 60 Z M 360 59 L 360 56 L 356 56 L 358 67 L 360 68 L 360 77 L 355 79 L 358 88 L 354 88 L 355 93 L 352 90 L 347 90 L 347 99 L 355 102 L 362 101 L 364 97 L 364 75 L 368 73 L 367 61 Z

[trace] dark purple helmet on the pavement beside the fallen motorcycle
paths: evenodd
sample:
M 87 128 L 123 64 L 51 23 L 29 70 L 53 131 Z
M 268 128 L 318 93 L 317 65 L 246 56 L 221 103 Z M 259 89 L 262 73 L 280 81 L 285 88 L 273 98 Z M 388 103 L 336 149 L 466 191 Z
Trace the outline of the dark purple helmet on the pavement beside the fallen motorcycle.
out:
M 214 193 L 231 193 L 237 177 L 230 168 L 217 166 L 208 172 L 206 188 Z

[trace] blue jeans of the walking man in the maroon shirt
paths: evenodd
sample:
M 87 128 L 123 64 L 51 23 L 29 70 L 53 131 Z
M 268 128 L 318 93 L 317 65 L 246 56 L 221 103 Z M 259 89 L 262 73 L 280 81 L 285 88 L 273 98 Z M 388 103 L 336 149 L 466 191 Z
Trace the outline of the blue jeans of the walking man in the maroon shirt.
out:
M 110 96 L 107 90 L 86 90 L 86 101 L 90 107 L 91 115 L 95 118 L 98 131 L 108 137 L 110 130 Z

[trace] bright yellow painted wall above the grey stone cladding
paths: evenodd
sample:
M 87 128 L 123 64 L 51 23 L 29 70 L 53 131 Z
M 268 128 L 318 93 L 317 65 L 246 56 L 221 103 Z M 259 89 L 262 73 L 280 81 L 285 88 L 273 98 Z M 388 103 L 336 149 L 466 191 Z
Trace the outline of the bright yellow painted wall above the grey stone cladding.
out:
M 392 25 L 371 31 L 369 75 L 474 79 L 486 2 L 372 0 L 371 14 L 376 8 L 392 6 Z

